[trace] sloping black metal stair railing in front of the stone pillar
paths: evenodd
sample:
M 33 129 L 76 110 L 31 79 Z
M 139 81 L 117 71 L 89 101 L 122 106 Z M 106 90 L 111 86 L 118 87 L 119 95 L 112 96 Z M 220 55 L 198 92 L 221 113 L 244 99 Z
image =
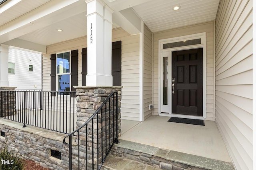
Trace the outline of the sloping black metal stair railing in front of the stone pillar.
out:
M 75 133 L 76 147 L 72 146 L 72 135 Z M 65 141 L 67 137 L 69 143 Z M 100 170 L 114 143 L 119 143 L 118 92 L 112 92 L 83 125 L 63 139 L 63 143 L 69 145 L 70 170 Z M 78 152 L 73 153 L 72 149 Z M 78 165 L 72 165 L 72 155 L 75 156 L 73 159 L 78 159 Z

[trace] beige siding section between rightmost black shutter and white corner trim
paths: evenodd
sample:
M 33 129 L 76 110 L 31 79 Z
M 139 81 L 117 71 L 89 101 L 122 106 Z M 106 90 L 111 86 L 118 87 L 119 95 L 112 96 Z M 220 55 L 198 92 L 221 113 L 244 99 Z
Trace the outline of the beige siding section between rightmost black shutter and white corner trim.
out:
M 121 28 L 113 29 L 112 41 L 122 41 L 121 85 L 122 105 L 121 119 L 139 121 L 139 35 L 131 36 Z

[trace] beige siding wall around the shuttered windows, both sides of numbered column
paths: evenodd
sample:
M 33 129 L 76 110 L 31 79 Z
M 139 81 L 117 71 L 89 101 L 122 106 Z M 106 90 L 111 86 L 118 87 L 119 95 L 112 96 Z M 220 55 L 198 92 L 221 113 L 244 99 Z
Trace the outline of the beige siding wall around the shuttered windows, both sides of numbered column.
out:
M 139 35 L 131 36 L 121 28 L 112 30 L 112 42 L 122 41 L 121 85 L 122 119 L 139 121 Z M 78 49 L 78 86 L 82 85 L 82 48 L 87 47 L 87 37 L 80 37 L 46 47 L 42 59 L 43 90 L 50 91 L 50 55 Z

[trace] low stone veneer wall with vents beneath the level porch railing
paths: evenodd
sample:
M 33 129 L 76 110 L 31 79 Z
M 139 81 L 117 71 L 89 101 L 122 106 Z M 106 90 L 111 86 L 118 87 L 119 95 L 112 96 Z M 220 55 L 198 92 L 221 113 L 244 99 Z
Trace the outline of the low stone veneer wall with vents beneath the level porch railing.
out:
M 15 128 L 17 126 L 22 127 L 22 123 L 12 123 L 9 125 L 0 123 L 0 131 L 5 133 L 5 136 L 0 136 L 0 149 L 7 146 L 8 150 L 16 153 L 18 156 L 22 156 L 26 159 L 33 160 L 39 163 L 44 168 L 51 170 L 66 170 L 68 169 L 68 145 L 64 145 L 62 141 L 51 139 L 53 137 L 58 138 L 60 133 L 52 132 L 49 130 L 42 130 L 37 127 L 25 127 L 24 130 Z M 30 131 L 31 129 L 40 129 L 38 133 L 36 131 Z M 40 131 L 46 135 L 38 135 Z M 64 138 L 64 134 L 62 139 Z M 52 136 L 50 138 L 50 136 Z M 76 147 L 76 145 L 74 145 Z M 51 156 L 51 149 L 61 152 L 61 160 Z

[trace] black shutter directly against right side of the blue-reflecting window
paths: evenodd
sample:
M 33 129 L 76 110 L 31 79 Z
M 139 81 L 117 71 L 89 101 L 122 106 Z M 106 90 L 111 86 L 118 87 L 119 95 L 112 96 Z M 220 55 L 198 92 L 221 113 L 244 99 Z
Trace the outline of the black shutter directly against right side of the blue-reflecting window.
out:
M 78 50 L 71 51 L 71 91 L 76 89 L 73 86 L 78 86 Z M 74 97 L 74 95 L 71 95 Z

